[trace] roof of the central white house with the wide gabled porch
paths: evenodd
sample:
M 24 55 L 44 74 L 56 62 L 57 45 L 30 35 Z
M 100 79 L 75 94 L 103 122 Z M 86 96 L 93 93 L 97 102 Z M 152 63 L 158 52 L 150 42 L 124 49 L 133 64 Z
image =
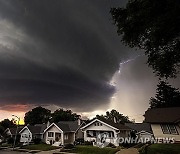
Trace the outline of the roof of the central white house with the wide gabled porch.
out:
M 89 122 L 87 125 L 85 125 L 83 128 L 86 128 L 87 126 L 89 126 L 90 124 L 94 123 L 96 120 L 98 121 L 102 121 L 104 123 L 106 123 L 107 125 L 111 126 L 111 127 L 114 127 L 115 129 L 118 129 L 118 130 L 131 130 L 131 128 L 129 128 L 128 126 L 125 126 L 123 124 L 119 124 L 119 123 L 114 123 L 112 121 L 109 121 L 109 120 L 106 120 L 106 119 L 94 119 L 92 120 L 91 122 Z

